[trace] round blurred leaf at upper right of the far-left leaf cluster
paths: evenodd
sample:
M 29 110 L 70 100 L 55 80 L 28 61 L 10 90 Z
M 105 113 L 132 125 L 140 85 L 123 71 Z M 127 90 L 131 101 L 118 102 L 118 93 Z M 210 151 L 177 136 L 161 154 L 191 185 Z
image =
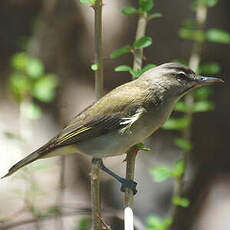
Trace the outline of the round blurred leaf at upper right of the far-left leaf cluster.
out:
M 26 65 L 26 72 L 32 78 L 38 78 L 44 73 L 43 63 L 37 58 L 29 58 Z

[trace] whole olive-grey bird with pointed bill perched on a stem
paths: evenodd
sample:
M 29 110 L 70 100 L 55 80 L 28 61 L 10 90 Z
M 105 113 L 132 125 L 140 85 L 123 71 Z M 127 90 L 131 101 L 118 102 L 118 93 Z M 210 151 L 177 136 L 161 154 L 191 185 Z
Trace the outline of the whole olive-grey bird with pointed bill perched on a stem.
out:
M 198 86 L 218 82 L 223 80 L 196 75 L 181 64 L 166 63 L 152 68 L 80 113 L 57 136 L 16 163 L 3 177 L 37 159 L 72 153 L 93 157 L 100 168 L 114 176 L 101 158 L 126 153 L 164 124 L 183 95 Z M 130 185 L 123 178 L 116 179 L 135 190 L 135 182 Z

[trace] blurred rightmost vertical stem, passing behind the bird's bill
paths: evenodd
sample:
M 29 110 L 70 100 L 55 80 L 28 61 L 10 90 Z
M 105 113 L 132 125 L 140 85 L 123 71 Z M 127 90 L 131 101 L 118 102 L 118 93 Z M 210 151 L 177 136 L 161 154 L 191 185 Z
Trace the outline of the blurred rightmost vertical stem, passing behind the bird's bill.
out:
M 203 31 L 206 19 L 207 19 L 207 8 L 203 5 L 198 6 L 198 8 L 196 9 L 196 21 L 197 21 L 199 30 Z M 189 59 L 189 67 L 194 71 L 197 71 L 199 64 L 200 64 L 201 49 L 202 49 L 202 41 L 195 41 L 193 44 L 191 56 Z M 183 130 L 182 136 L 185 140 L 190 142 L 191 135 L 192 135 L 192 118 L 193 118 L 192 108 L 194 104 L 194 98 L 192 94 L 188 94 L 185 96 L 185 104 L 187 106 L 187 111 L 186 111 L 185 116 L 189 119 L 190 123 L 188 127 Z M 182 159 L 184 161 L 185 170 L 188 164 L 188 154 L 189 154 L 188 152 L 182 153 Z M 185 171 L 177 179 L 175 183 L 173 196 L 182 195 L 183 187 L 184 187 L 184 176 L 185 176 Z M 170 210 L 171 218 L 173 221 L 175 220 L 175 216 L 177 215 L 177 211 L 178 211 L 177 207 L 178 206 L 173 205 Z

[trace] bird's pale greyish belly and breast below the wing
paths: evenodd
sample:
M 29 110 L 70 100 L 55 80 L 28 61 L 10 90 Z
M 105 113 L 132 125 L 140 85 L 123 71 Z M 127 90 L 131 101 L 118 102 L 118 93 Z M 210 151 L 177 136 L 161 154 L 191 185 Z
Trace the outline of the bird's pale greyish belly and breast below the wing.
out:
M 79 152 L 93 157 L 124 154 L 133 145 L 143 141 L 168 119 L 172 106 L 158 108 L 143 115 L 124 133 L 114 131 L 76 144 Z M 166 109 L 165 109 L 166 108 Z

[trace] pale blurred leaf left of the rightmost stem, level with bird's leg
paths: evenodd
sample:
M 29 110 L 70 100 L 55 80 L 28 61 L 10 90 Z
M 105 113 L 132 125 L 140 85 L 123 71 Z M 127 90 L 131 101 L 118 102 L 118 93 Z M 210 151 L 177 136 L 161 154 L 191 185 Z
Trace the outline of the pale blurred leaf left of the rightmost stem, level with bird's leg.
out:
M 150 174 L 156 182 L 162 182 L 172 176 L 172 170 L 165 166 L 157 166 L 150 170 Z

